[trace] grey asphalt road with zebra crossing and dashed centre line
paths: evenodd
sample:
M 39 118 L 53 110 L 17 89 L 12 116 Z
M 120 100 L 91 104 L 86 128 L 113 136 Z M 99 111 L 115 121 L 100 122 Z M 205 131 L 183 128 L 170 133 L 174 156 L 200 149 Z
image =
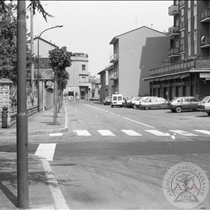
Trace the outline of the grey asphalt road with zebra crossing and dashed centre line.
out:
M 29 152 L 54 145 L 50 164 L 70 209 L 176 209 L 162 189 L 170 167 L 190 162 L 210 177 L 205 113 L 81 102 L 69 102 L 67 111 L 69 131 L 30 137 Z M 197 207 L 210 209 L 210 193 Z

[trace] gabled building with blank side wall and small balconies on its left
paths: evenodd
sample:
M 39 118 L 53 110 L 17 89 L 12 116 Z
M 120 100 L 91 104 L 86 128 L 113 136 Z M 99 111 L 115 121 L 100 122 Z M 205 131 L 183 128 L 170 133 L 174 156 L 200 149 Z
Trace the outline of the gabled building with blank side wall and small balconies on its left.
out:
M 149 83 L 142 78 L 168 58 L 169 37 L 143 26 L 115 36 L 110 44 L 113 45 L 112 92 L 125 96 L 149 95 Z

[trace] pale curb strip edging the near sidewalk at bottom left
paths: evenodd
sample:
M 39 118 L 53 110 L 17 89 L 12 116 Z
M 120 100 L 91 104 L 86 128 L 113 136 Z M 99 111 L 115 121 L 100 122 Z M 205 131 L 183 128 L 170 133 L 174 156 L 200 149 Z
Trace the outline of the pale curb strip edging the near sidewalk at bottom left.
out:
M 55 202 L 55 207 L 56 209 L 66 209 L 66 210 L 69 210 L 69 207 L 68 205 L 66 204 L 66 200 L 59 188 L 59 184 L 54 176 L 54 173 L 48 163 L 48 161 L 44 158 L 41 158 L 40 157 L 40 160 L 42 161 L 42 165 L 43 165 L 43 168 L 45 170 L 45 176 L 48 180 L 48 183 L 49 183 L 49 188 L 50 188 L 50 191 L 52 193 L 52 196 L 54 198 L 54 202 Z

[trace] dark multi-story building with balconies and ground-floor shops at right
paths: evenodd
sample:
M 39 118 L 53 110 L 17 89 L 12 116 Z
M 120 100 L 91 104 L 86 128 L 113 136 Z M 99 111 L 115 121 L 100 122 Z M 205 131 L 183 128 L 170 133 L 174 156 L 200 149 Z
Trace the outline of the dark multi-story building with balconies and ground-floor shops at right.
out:
M 210 1 L 174 0 L 168 8 L 173 26 L 168 30 L 169 63 L 150 69 L 150 94 L 176 96 L 210 95 Z

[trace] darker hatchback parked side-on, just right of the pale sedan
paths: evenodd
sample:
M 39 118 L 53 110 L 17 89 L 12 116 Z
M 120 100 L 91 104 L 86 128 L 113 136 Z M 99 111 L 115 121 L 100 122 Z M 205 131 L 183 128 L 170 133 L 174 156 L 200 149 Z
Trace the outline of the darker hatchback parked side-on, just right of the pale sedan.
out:
M 172 112 L 181 112 L 182 110 L 193 110 L 198 109 L 199 99 L 194 96 L 182 96 L 175 97 L 168 103 L 168 109 Z

